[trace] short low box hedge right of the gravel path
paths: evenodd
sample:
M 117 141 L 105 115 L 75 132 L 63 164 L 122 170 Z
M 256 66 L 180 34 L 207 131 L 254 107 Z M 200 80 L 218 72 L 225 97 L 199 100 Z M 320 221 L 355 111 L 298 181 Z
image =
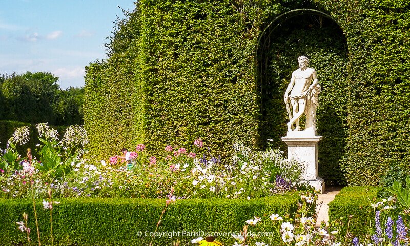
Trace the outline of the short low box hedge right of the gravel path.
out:
M 341 233 L 345 235 L 349 216 L 351 216 L 350 233 L 358 237 L 365 236 L 367 233 L 371 234 L 375 231 L 375 210 L 369 199 L 376 203 L 373 198 L 380 190 L 381 187 L 344 187 L 335 199 L 329 202 L 329 221 L 343 217 L 345 224 Z

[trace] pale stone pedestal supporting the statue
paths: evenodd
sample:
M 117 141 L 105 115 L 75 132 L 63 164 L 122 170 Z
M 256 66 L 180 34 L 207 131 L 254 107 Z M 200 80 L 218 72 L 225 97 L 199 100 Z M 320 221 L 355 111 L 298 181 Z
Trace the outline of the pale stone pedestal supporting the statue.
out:
M 323 136 L 316 131 L 289 131 L 282 141 L 288 145 L 288 160 L 294 159 L 304 165 L 302 182 L 308 183 L 321 191 L 325 190 L 325 182 L 318 175 L 317 144 Z

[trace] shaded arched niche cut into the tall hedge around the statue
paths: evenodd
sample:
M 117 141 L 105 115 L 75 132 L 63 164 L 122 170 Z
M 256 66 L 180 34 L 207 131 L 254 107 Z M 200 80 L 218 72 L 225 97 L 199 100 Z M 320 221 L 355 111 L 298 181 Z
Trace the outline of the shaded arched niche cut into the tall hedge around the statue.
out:
M 326 182 L 345 184 L 340 161 L 345 154 L 347 136 L 347 44 L 345 36 L 330 15 L 314 9 L 295 9 L 272 20 L 258 40 L 257 77 L 261 98 L 262 139 L 273 139 L 273 146 L 285 150 L 279 136 L 286 134 L 289 120 L 283 94 L 297 57 L 306 55 L 315 68 L 322 93 L 317 109 L 319 175 Z M 302 120 L 301 122 L 303 122 Z

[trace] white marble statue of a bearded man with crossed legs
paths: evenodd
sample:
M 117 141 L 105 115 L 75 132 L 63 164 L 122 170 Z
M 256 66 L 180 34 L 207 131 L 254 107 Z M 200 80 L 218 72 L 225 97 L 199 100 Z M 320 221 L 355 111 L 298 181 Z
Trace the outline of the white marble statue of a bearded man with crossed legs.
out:
M 288 110 L 289 115 L 288 131 L 293 131 L 294 123 L 296 124 L 295 131 L 300 131 L 299 118 L 303 113 L 306 115 L 304 130 L 316 131 L 316 108 L 319 106 L 318 95 L 320 93 L 320 85 L 317 81 L 315 69 L 308 68 L 308 57 L 299 56 L 298 63 L 299 68 L 293 71 L 291 82 L 284 96 L 286 110 Z M 291 94 L 289 95 L 289 93 Z M 293 116 L 290 110 L 291 106 Z

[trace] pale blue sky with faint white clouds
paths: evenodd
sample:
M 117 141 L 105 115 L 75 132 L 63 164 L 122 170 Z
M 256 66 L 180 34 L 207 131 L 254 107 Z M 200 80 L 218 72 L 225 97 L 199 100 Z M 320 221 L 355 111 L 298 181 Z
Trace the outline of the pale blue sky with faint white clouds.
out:
M 0 74 L 50 72 L 61 89 L 84 86 L 85 66 L 105 59 L 105 38 L 133 0 L 0 0 Z

